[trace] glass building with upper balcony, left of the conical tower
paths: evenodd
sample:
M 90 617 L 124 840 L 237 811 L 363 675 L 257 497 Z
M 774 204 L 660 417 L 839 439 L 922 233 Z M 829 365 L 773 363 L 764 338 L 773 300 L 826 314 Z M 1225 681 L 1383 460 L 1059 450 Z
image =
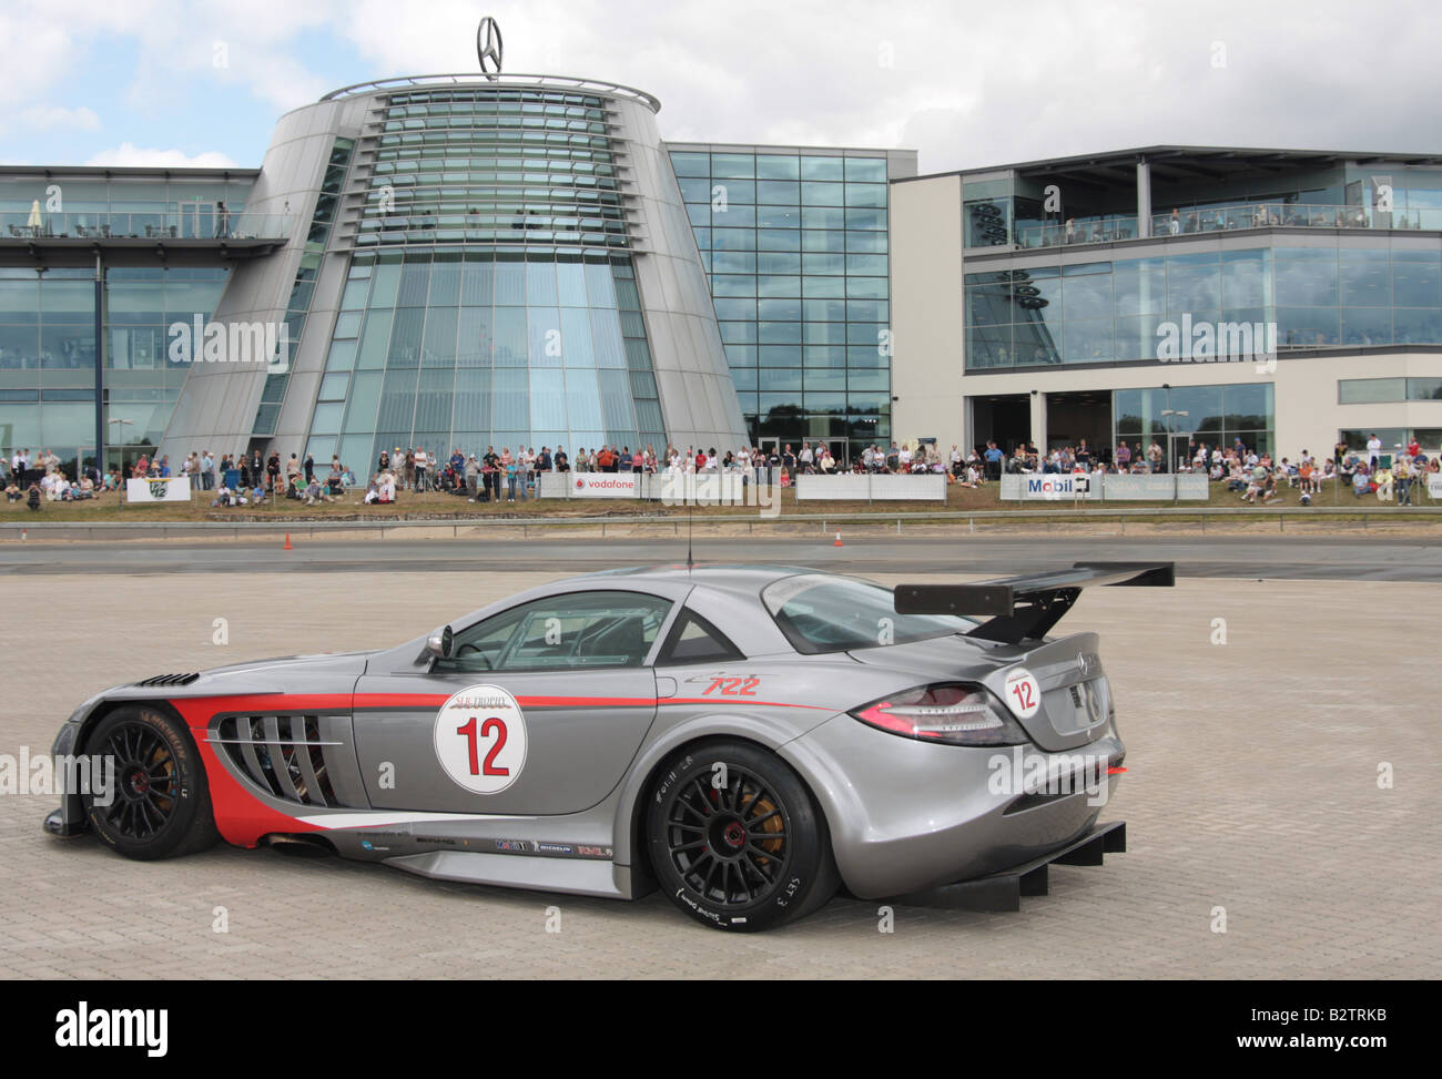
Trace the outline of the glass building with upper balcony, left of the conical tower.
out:
M 74 472 L 94 463 L 97 427 L 111 466 L 156 452 L 190 366 L 169 327 L 209 320 L 231 267 L 288 234 L 247 212 L 257 175 L 0 167 L 6 456 L 49 450 Z

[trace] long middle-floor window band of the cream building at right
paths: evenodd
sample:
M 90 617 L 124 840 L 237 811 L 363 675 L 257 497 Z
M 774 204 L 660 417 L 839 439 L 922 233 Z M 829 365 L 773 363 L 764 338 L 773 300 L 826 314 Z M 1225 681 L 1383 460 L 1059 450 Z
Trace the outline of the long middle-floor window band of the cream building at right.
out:
M 968 369 L 1158 359 L 1165 323 L 1276 346 L 1442 343 L 1442 251 L 1249 248 L 966 274 Z M 1255 352 L 1263 352 L 1257 346 Z

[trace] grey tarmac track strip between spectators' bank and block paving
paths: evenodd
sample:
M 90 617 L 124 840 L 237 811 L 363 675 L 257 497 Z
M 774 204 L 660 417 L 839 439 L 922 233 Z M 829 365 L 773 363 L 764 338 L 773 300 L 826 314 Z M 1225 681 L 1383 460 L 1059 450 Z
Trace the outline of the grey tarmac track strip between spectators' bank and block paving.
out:
M 828 534 L 831 535 L 831 534 Z M 1442 535 L 1416 537 L 790 537 L 696 538 L 696 561 L 800 564 L 836 573 L 1011 576 L 1084 560 L 1174 561 L 1182 577 L 1442 581 Z M 296 538 L 265 541 L 25 542 L 0 547 L 6 574 L 369 573 L 538 570 L 587 573 L 685 561 L 682 538 Z

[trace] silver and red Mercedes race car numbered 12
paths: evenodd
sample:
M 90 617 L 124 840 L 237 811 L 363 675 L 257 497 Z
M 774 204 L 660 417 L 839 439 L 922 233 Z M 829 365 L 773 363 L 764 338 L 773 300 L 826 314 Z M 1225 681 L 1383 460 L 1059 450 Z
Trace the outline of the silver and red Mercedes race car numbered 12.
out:
M 143 860 L 224 838 L 659 887 L 734 930 L 838 889 L 933 894 L 1096 835 L 1123 770 L 1112 692 L 1094 633 L 1047 633 L 1084 586 L 1171 583 L 1131 563 L 894 591 L 774 565 L 575 577 L 385 651 L 107 690 L 53 752 L 114 782 L 46 829 Z

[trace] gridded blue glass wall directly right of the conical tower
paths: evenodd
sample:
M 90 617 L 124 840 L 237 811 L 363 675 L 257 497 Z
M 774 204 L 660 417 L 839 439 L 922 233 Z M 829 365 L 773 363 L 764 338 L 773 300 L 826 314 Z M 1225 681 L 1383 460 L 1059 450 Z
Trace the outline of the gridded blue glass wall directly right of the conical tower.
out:
M 887 159 L 672 150 L 754 443 L 891 440 Z

